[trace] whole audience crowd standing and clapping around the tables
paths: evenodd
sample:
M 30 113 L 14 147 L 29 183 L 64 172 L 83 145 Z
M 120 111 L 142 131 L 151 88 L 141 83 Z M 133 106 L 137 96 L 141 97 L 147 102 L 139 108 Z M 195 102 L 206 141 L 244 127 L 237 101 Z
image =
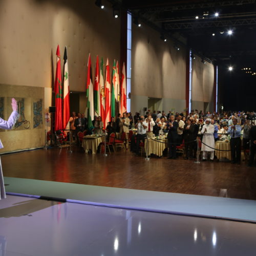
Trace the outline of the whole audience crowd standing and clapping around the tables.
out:
M 155 138 L 166 134 L 168 140 L 168 158 L 177 159 L 176 146 L 184 145 L 185 159 L 195 159 L 199 139 L 202 142 L 202 160 L 206 161 L 208 153 L 210 161 L 215 157 L 215 142 L 230 141 L 231 163 L 241 163 L 241 150 L 250 152 L 248 165 L 252 166 L 256 154 L 256 113 L 255 112 L 222 112 L 204 113 L 193 110 L 189 115 L 183 113 L 169 113 L 148 110 L 144 115 L 136 112 L 118 114 L 106 126 L 108 136 L 111 133 L 126 134 L 137 130 L 131 138 L 131 151 L 139 154 L 140 143 L 145 138 Z M 93 126 L 88 127 L 87 118 L 75 112 L 70 117 L 70 130 L 75 140 L 78 132 L 87 134 L 103 134 L 103 122 L 100 116 L 95 116 Z

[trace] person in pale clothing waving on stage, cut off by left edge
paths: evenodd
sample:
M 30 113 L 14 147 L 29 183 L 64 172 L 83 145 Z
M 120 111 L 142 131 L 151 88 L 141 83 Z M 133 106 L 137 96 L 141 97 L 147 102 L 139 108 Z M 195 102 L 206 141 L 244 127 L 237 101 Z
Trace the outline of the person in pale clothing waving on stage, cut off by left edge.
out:
M 18 106 L 17 106 L 17 101 L 12 98 L 12 113 L 10 117 L 8 118 L 8 121 L 5 121 L 4 119 L 0 118 L 0 129 L 7 129 L 10 130 L 12 126 L 14 125 L 16 118 L 18 117 Z M 0 148 L 3 148 L 3 144 L 0 140 Z M 1 164 L 1 159 L 0 159 L 0 200 L 1 198 L 6 198 L 5 194 L 5 183 L 4 183 L 4 177 L 3 177 L 3 171 L 2 171 L 2 164 Z

